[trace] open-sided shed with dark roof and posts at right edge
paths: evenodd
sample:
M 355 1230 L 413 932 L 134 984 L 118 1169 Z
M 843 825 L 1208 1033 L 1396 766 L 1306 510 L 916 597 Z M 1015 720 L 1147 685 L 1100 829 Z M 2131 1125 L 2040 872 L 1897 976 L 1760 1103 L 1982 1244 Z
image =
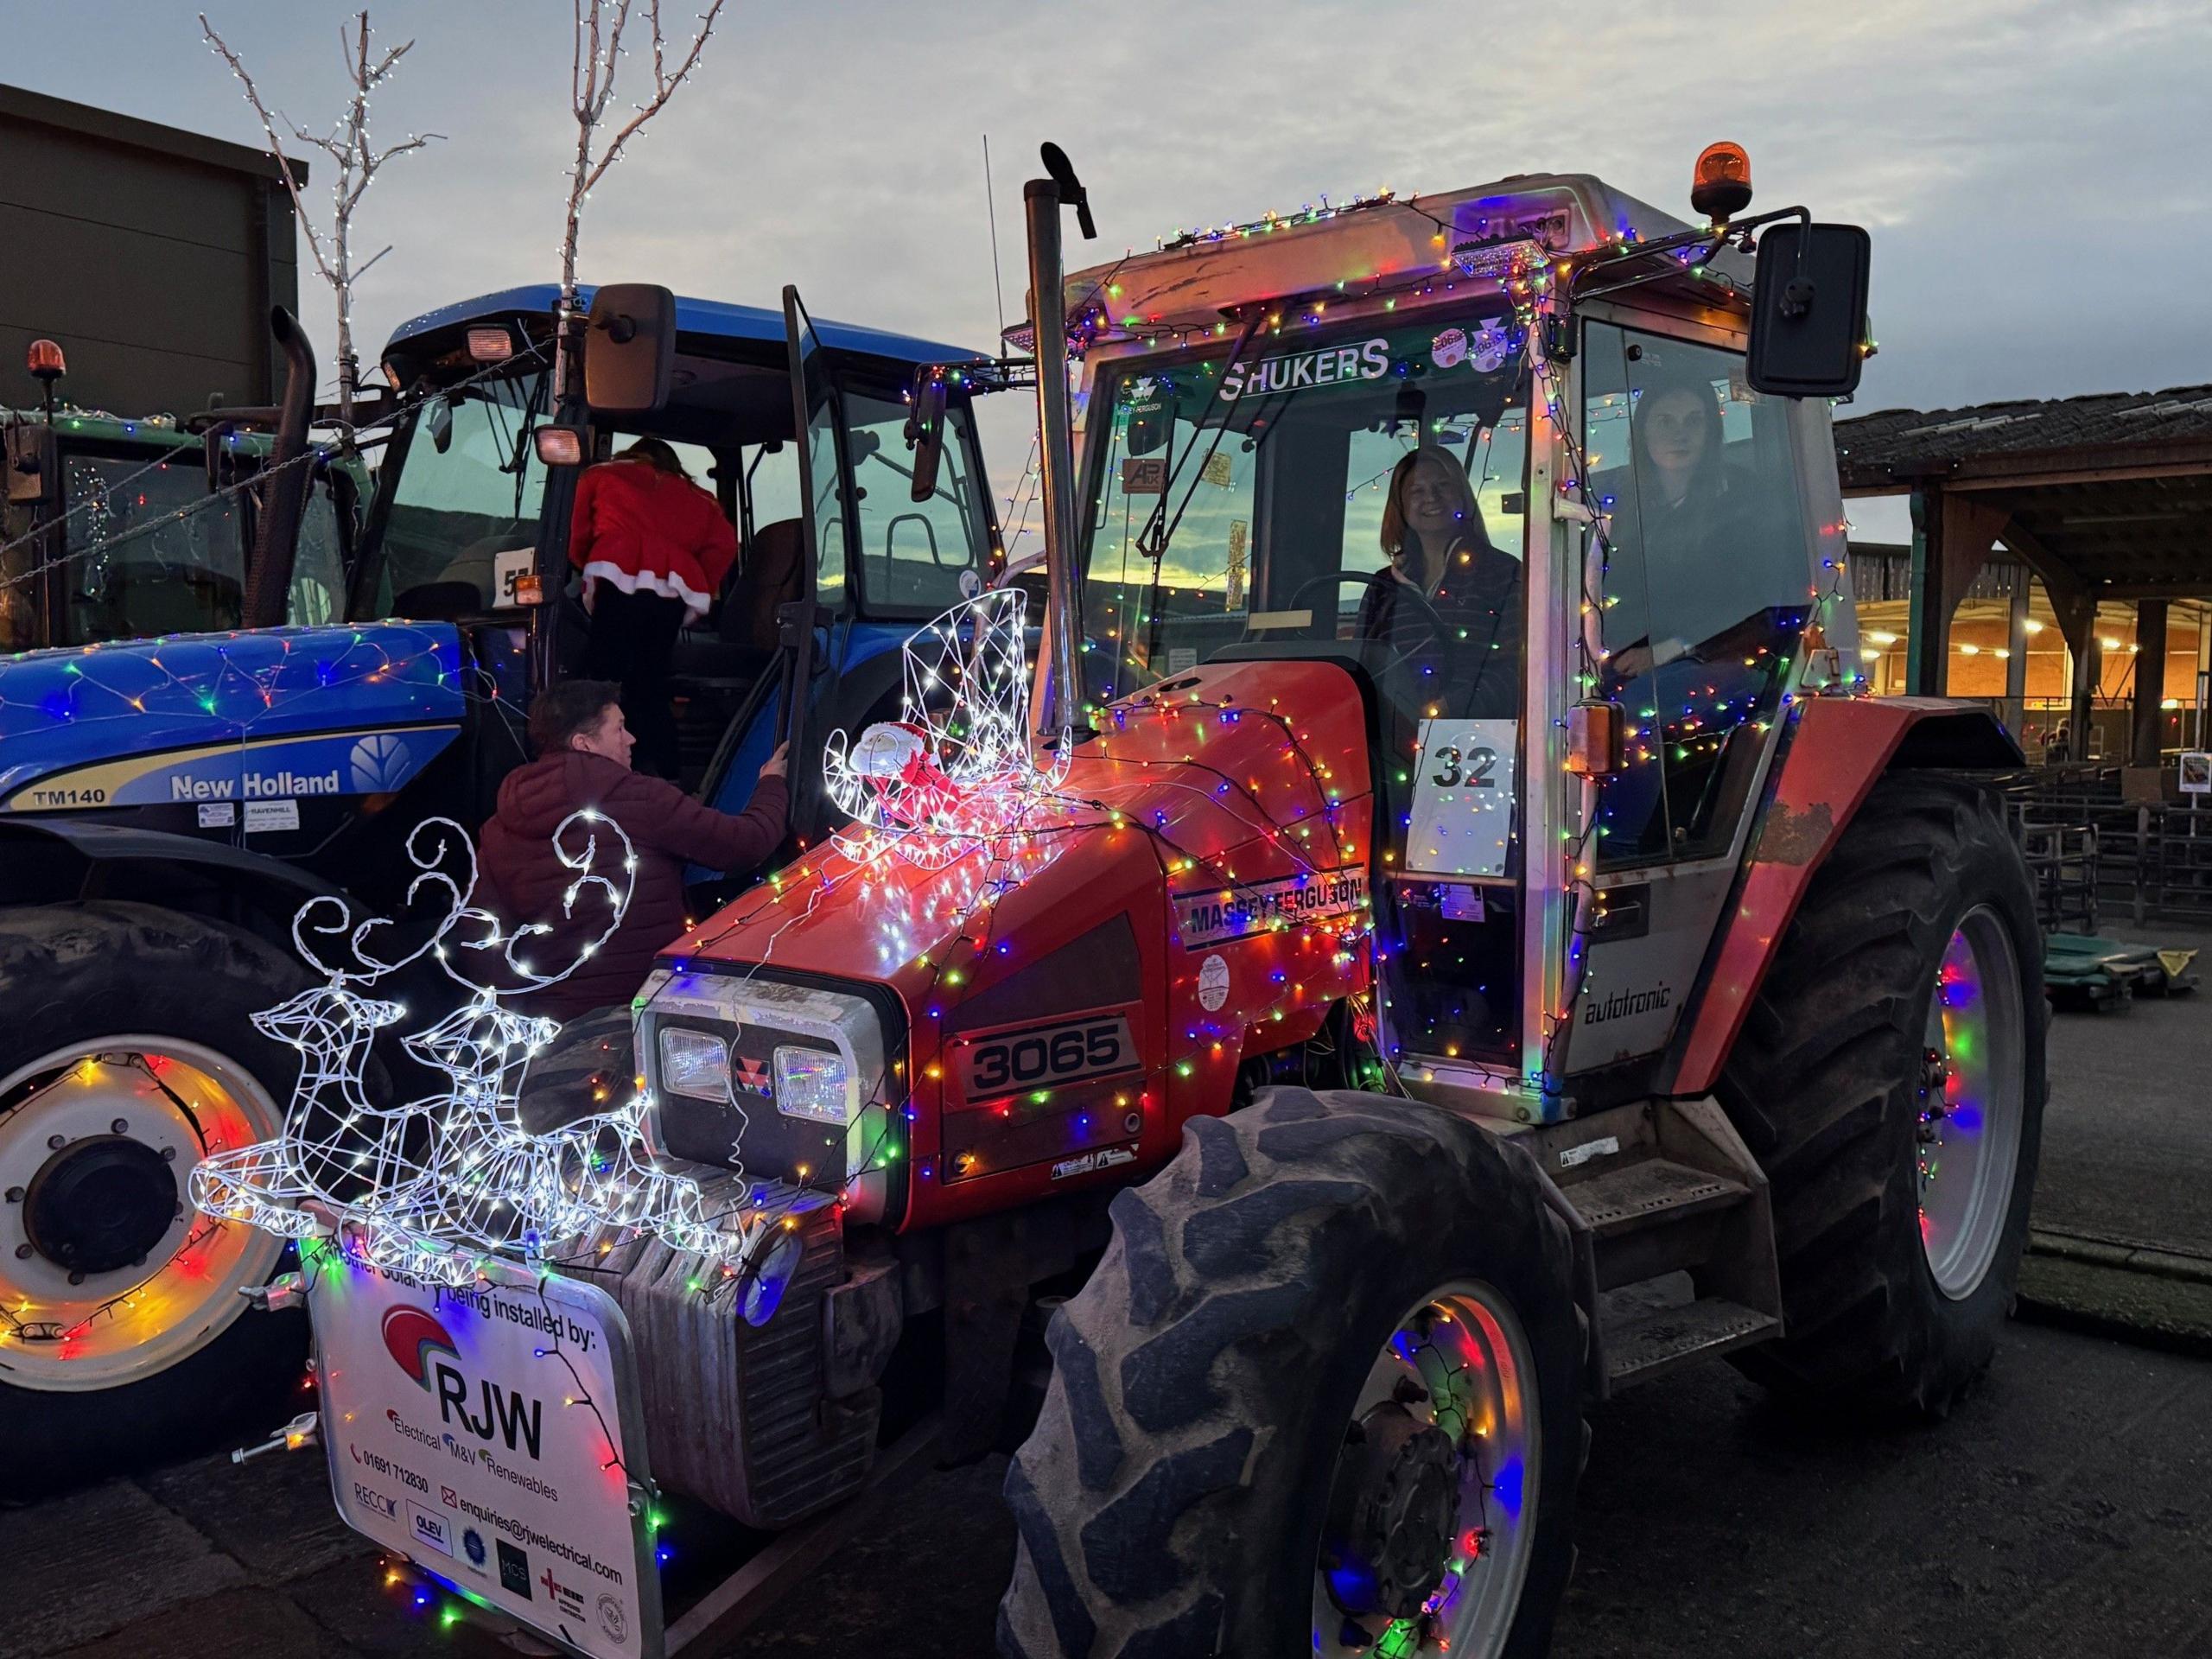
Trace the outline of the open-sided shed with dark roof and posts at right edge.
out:
M 2137 606 L 2130 759 L 2159 763 L 2166 606 L 2212 597 L 2212 385 L 1885 409 L 1836 422 L 1836 465 L 1845 495 L 1911 493 L 1909 690 L 1942 692 L 1951 613 L 2002 542 L 2051 595 L 2077 732 L 2099 681 L 2097 606 Z

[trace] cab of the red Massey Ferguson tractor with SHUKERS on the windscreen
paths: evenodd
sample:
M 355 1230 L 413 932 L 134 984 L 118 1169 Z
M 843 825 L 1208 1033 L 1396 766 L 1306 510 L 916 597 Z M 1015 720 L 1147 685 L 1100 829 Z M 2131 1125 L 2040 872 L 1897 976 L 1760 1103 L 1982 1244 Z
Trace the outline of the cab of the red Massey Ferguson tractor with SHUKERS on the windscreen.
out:
M 1648 1084 L 1805 646 L 1856 644 L 1827 405 L 1752 387 L 1750 274 L 1566 175 L 1066 283 L 1106 701 L 1241 657 L 1356 670 L 1383 1051 L 1418 1091 L 1511 1117 L 1568 1075 Z

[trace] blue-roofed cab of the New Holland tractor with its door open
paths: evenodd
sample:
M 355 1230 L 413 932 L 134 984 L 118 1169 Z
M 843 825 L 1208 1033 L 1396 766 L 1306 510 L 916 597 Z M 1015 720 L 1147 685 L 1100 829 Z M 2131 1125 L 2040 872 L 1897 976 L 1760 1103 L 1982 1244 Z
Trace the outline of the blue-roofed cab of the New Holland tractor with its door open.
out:
M 911 498 L 905 440 L 916 367 L 973 354 L 816 327 L 796 294 L 790 316 L 675 299 L 657 319 L 672 343 L 653 407 L 562 409 L 555 301 L 551 285 L 518 288 L 392 336 L 385 374 L 420 407 L 383 456 L 352 615 L 458 624 L 502 697 L 524 703 L 535 684 L 586 657 L 593 624 L 568 562 L 580 473 L 639 438 L 668 442 L 739 542 L 728 580 L 703 595 L 706 611 L 672 653 L 681 781 L 737 810 L 787 730 L 774 717 L 794 655 L 785 606 L 816 606 L 805 701 L 827 730 L 896 703 L 898 641 L 995 573 L 998 531 L 964 392 L 947 407 L 945 465 L 925 500 Z M 604 347 L 606 327 L 586 332 L 586 365 Z M 812 787 L 794 783 L 803 823 Z

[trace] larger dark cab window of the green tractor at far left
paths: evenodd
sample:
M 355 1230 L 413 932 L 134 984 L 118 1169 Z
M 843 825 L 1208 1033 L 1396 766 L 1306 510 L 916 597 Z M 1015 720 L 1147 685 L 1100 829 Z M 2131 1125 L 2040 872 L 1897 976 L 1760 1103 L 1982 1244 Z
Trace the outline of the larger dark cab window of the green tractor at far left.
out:
M 208 495 L 199 456 L 69 456 L 69 637 L 62 644 L 237 628 L 246 542 L 234 495 Z

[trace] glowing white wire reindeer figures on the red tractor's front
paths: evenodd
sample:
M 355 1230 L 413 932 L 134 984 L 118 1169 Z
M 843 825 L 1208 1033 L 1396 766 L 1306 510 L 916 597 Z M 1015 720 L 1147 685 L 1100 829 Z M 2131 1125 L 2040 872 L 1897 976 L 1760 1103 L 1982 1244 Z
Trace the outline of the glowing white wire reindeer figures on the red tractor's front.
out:
M 582 845 L 573 845 L 573 830 Z M 619 847 L 615 858 L 602 860 L 602 830 Z M 261 1031 L 301 1053 L 285 1126 L 276 1139 L 192 1170 L 192 1201 L 204 1212 L 285 1239 L 336 1232 L 369 1265 L 456 1287 L 473 1283 L 491 1254 L 544 1263 L 608 1228 L 657 1234 L 719 1263 L 726 1276 L 737 1272 L 765 1217 L 710 1212 L 697 1181 L 664 1170 L 644 1144 L 641 1095 L 544 1135 L 522 1128 L 522 1077 L 560 1026 L 502 998 L 557 984 L 591 958 L 622 925 L 637 869 L 622 825 L 588 807 L 562 818 L 553 849 L 573 872 L 562 914 L 575 916 L 586 898 L 606 911 L 604 927 L 553 971 L 522 958 L 553 931 L 549 922 L 509 929 L 469 902 L 476 856 L 447 818 L 427 818 L 407 838 L 420 872 L 407 909 L 434 896 L 445 911 L 436 925 L 416 925 L 422 938 L 411 949 L 383 953 L 385 938 L 405 936 L 403 920 L 354 925 L 334 896 L 301 907 L 292 940 L 327 980 L 257 1015 Z M 422 956 L 471 993 L 427 1031 L 403 1037 L 447 1086 L 376 1106 L 363 1082 L 369 1046 L 405 1009 L 361 987 Z

